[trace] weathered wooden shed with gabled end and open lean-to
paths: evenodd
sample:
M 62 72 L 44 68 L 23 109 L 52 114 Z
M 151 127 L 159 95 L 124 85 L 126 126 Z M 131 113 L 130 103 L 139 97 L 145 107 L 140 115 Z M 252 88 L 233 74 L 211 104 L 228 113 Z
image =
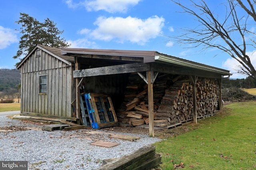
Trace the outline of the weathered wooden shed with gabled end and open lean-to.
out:
M 129 113 L 142 115 L 144 121 L 148 117 L 150 136 L 154 136 L 154 124 L 196 122 L 198 113 L 222 111 L 221 79 L 231 75 L 228 70 L 157 51 L 44 45 L 37 45 L 18 69 L 21 114 L 78 121 L 81 94 L 104 94 L 112 99 L 118 121 Z

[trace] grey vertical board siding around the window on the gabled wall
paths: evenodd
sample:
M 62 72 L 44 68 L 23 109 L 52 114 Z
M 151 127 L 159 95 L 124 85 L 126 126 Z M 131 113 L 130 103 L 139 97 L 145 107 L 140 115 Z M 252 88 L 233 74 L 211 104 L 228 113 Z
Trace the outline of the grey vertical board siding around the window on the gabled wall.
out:
M 74 100 L 72 66 L 52 55 L 36 51 L 20 67 L 21 112 L 72 117 Z M 39 93 L 39 78 L 47 76 L 47 93 Z

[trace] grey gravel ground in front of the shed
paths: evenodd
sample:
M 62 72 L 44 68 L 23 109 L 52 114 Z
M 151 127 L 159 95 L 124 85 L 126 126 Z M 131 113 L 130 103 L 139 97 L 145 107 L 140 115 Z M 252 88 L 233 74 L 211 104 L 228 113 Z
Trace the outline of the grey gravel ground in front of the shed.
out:
M 42 131 L 41 127 L 42 125 L 12 120 L 4 115 L 0 116 L 0 160 L 28 161 L 29 170 L 94 170 L 102 165 L 104 159 L 118 158 L 145 145 L 160 141 L 148 135 L 106 130 L 82 129 L 50 132 Z M 88 134 L 88 131 L 105 133 Z M 132 135 L 140 139 L 125 141 L 110 138 L 108 133 Z M 98 140 L 120 145 L 104 148 L 90 144 Z

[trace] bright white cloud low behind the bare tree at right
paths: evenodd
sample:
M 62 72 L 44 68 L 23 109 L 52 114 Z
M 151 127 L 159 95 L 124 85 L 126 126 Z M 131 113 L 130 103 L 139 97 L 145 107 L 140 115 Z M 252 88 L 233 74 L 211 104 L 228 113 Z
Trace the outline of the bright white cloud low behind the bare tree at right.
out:
M 250 61 L 253 66 L 256 66 L 256 51 L 249 51 L 246 53 L 250 57 Z M 237 74 L 238 65 L 241 65 L 236 59 L 228 58 L 224 63 L 222 63 L 222 67 L 230 70 L 233 74 L 231 77 L 233 78 L 246 78 L 244 75 Z

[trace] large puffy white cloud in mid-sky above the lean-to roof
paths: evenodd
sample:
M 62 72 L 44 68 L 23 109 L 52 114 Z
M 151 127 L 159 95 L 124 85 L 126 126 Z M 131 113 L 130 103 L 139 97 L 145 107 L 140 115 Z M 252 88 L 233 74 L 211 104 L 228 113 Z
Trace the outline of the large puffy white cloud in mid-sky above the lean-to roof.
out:
M 94 39 L 111 41 L 116 40 L 120 43 L 130 41 L 143 45 L 149 39 L 158 36 L 164 26 L 164 18 L 152 16 L 146 20 L 139 18 L 121 17 L 99 17 L 94 25 L 98 27 L 94 29 L 90 35 Z

